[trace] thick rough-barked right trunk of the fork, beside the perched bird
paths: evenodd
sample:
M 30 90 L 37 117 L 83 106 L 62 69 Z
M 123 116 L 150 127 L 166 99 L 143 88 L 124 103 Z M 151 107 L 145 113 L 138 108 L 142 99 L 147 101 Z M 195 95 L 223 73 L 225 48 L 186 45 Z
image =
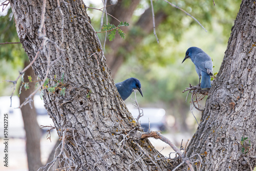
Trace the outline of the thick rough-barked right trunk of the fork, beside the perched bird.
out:
M 256 155 L 255 16 L 255 1 L 242 1 L 216 83 L 188 146 L 187 156 L 201 155 L 201 170 L 250 170 L 245 159 L 255 166 L 255 159 L 248 157 Z M 246 155 L 242 153 L 242 136 L 251 141 Z

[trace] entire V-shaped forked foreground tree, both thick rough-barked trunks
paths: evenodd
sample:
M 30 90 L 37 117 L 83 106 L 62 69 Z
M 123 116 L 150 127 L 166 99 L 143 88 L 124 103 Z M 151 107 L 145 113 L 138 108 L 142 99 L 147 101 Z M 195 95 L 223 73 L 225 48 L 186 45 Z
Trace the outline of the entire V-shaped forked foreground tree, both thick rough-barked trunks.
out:
M 18 36 L 32 61 L 42 42 L 37 34 L 42 3 L 10 2 Z M 158 152 L 147 140 L 136 140 L 131 135 L 122 147 L 123 135 L 134 128 L 135 121 L 117 93 L 105 59 L 102 60 L 86 7 L 80 0 L 69 1 L 66 5 L 60 2 L 64 14 L 61 36 L 62 16 L 57 2 L 49 0 L 46 4 L 46 36 L 65 51 L 61 52 L 48 42 L 33 69 L 44 78 L 49 54 L 55 62 L 51 62 L 48 77 L 54 79 L 56 75 L 60 80 L 62 73 L 65 75 L 66 95 L 61 96 L 60 90 L 54 94 L 45 90 L 44 100 L 59 136 L 68 129 L 65 147 L 72 168 L 172 170 L 176 165 L 170 166 L 165 159 L 155 160 Z M 202 157 L 201 170 L 248 170 L 240 145 L 243 135 L 251 140 L 249 155 L 255 155 L 255 12 L 253 1 L 242 2 L 216 84 L 210 91 L 199 129 L 187 149 L 188 157 L 194 154 Z M 49 86 L 54 84 L 50 81 Z M 246 158 L 253 167 L 254 159 Z

